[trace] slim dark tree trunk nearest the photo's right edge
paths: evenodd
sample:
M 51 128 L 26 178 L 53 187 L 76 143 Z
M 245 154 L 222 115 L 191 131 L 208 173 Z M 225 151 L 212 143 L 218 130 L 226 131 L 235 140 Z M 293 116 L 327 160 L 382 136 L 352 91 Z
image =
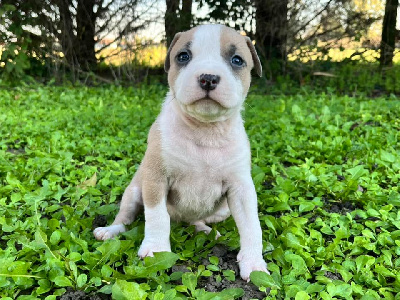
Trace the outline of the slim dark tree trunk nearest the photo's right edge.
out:
M 396 19 L 399 0 L 386 0 L 385 16 L 382 25 L 381 40 L 381 66 L 391 66 L 393 64 L 393 52 L 396 39 Z

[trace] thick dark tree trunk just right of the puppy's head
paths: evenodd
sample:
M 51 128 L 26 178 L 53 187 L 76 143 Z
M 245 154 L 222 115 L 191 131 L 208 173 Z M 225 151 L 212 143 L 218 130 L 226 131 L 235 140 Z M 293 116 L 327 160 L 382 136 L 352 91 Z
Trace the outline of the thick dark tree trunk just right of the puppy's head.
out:
M 286 61 L 288 0 L 256 0 L 256 46 L 269 71 Z

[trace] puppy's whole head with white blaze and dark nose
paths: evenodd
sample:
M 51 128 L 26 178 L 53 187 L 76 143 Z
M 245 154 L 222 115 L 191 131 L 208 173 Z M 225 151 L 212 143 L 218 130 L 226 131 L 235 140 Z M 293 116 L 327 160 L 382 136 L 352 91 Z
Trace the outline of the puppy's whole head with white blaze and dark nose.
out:
M 238 111 L 250 86 L 250 71 L 261 64 L 248 37 L 222 25 L 177 33 L 165 70 L 184 113 L 202 122 L 224 121 Z

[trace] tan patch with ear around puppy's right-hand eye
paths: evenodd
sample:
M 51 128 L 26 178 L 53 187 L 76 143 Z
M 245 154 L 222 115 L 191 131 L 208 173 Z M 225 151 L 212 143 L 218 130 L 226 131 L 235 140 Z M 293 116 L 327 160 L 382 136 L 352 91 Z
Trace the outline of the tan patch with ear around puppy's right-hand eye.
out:
M 229 27 L 222 28 L 220 42 L 222 57 L 232 67 L 232 71 L 240 78 L 247 91 L 251 81 L 251 70 L 254 68 L 259 76 L 262 74 L 260 60 L 254 45 L 248 37 L 240 35 Z M 244 65 L 241 68 L 231 65 L 231 59 L 234 55 L 238 55 L 244 60 Z

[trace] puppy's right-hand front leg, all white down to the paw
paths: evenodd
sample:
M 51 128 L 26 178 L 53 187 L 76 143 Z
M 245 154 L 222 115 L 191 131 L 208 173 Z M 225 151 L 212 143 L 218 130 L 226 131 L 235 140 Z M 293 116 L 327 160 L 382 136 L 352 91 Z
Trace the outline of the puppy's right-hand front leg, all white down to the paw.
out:
M 253 271 L 267 272 L 262 256 L 262 232 L 257 213 L 257 194 L 251 177 L 234 183 L 228 196 L 229 209 L 240 234 L 240 252 L 237 256 L 240 276 L 249 281 Z

